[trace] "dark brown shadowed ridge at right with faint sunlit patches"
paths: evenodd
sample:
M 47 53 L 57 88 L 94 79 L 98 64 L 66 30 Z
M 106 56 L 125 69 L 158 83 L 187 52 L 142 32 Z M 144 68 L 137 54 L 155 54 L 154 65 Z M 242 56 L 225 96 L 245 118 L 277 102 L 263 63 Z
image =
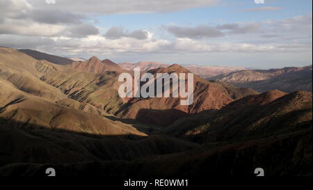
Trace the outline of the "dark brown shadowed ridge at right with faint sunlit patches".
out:
M 312 93 L 270 91 L 244 97 L 211 114 L 177 120 L 163 133 L 197 142 L 244 141 L 299 130 L 312 120 Z

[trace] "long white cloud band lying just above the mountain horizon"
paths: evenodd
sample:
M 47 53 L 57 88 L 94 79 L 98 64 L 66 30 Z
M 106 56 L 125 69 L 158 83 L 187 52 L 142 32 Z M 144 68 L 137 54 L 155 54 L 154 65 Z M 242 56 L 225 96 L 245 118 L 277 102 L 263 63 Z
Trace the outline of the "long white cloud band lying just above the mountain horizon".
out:
M 16 40 L 9 40 L 13 38 Z M 1 45 L 46 49 L 48 52 L 58 54 L 71 54 L 88 56 L 102 54 L 207 54 L 214 52 L 242 52 L 242 53 L 278 53 L 278 52 L 308 52 L 312 49 L 310 44 L 302 43 L 262 43 L 252 44 L 248 42 L 204 42 L 189 38 L 177 38 L 170 42 L 168 40 L 157 40 L 148 38 L 137 40 L 134 38 L 120 38 L 115 40 L 106 39 L 101 35 L 90 35 L 86 38 L 35 38 L 15 37 L 14 35 L 0 35 Z M 51 42 L 52 41 L 52 42 Z

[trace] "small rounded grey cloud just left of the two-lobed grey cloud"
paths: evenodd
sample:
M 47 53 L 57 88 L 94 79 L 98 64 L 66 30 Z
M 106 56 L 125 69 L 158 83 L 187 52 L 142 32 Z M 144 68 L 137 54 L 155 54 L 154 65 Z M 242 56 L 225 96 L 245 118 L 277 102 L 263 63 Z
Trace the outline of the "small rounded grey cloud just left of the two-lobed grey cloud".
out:
M 99 34 L 99 29 L 97 29 L 92 24 L 83 23 L 79 25 L 70 26 L 66 35 L 73 38 L 84 38 L 88 35 L 97 35 Z

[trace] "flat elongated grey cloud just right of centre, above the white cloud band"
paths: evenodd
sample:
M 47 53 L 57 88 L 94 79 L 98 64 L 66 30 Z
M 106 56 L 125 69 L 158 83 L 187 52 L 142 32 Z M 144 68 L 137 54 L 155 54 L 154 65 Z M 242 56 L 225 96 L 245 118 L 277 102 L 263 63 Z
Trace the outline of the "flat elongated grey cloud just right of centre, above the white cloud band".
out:
M 216 38 L 224 35 L 223 32 L 212 26 L 168 26 L 168 32 L 174 34 L 178 38 Z

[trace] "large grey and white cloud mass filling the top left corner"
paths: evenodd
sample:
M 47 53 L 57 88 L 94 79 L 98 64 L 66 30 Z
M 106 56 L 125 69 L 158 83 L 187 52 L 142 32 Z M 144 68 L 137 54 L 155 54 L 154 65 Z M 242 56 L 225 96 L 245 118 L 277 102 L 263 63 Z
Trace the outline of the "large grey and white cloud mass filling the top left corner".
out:
M 83 15 L 57 10 L 52 6 L 48 8 L 47 4 L 45 7 L 36 8 L 26 0 L 0 0 L 0 18 L 0 34 L 57 36 L 68 33 L 81 37 L 84 33 L 99 33 L 95 27 L 81 24 L 86 18 Z M 71 30 L 62 31 L 64 28 Z

